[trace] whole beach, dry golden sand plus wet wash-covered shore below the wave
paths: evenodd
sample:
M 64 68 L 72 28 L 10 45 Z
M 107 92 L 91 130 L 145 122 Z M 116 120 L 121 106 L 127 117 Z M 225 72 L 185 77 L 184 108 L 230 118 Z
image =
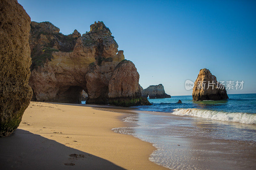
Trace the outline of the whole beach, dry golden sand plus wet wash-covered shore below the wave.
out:
M 159 109 L 154 105 L 152 108 Z M 142 110 L 147 108 L 31 101 L 18 129 L 0 140 L 0 167 L 256 167 L 255 124 Z

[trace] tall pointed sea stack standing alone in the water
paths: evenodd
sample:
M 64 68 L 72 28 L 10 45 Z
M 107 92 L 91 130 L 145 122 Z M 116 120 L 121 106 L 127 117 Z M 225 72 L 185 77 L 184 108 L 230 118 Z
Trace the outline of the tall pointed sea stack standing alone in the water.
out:
M 192 96 L 193 101 L 228 99 L 224 85 L 220 84 L 208 69 L 200 70 L 193 87 Z

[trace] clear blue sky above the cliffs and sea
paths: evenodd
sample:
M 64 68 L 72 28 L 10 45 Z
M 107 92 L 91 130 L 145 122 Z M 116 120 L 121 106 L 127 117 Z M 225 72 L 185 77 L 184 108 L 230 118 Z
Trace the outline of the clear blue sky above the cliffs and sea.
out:
M 192 95 L 185 81 L 207 68 L 224 84 L 244 81 L 243 89 L 226 88 L 228 94 L 256 93 L 254 0 L 18 2 L 31 21 L 50 21 L 63 34 L 83 34 L 103 21 L 143 88 L 163 84 L 171 96 Z

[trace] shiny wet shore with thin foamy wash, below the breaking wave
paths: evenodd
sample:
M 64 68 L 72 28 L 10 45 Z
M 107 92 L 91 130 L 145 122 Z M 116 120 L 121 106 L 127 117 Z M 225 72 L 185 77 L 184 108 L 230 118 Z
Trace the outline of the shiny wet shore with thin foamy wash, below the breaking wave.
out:
M 255 169 L 256 126 L 170 113 L 138 111 L 125 122 L 140 126 L 115 128 L 154 143 L 150 160 L 170 169 Z

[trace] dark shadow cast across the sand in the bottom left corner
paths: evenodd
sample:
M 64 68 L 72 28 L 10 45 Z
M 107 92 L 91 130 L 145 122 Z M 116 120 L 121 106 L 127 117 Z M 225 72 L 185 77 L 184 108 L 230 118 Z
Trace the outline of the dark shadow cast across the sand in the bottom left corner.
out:
M 17 129 L 10 137 L 0 138 L 0 169 L 123 168 L 106 159 Z

